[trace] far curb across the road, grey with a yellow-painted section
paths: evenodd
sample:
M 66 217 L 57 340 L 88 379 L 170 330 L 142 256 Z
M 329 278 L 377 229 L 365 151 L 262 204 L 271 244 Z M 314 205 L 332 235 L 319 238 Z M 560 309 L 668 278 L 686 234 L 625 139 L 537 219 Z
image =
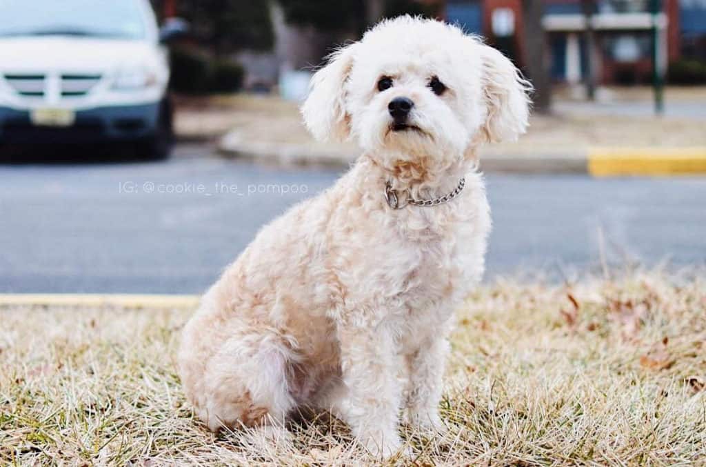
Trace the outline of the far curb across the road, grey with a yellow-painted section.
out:
M 224 158 L 253 160 L 283 167 L 346 168 L 359 151 L 315 143 L 245 141 L 237 132 L 221 139 L 218 153 Z M 556 149 L 551 153 L 481 153 L 481 170 L 517 174 L 586 174 L 593 177 L 670 176 L 706 174 L 706 147 Z

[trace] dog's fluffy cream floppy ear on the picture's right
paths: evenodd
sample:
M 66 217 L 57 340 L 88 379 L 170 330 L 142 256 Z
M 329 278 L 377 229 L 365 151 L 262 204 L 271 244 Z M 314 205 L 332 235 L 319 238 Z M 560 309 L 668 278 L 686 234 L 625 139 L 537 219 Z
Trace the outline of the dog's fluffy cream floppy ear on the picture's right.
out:
M 481 45 L 481 86 L 488 114 L 481 128 L 489 143 L 515 141 L 527 130 L 532 84 L 498 49 Z

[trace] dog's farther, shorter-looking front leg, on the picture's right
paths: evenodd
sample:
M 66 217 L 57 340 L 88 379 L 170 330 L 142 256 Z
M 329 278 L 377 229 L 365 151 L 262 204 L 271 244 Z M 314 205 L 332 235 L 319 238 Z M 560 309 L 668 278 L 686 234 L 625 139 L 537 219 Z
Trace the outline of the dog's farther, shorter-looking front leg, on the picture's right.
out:
M 405 355 L 409 382 L 405 391 L 407 422 L 423 430 L 444 432 L 438 414 L 448 341 L 443 336 L 426 338 L 414 353 Z

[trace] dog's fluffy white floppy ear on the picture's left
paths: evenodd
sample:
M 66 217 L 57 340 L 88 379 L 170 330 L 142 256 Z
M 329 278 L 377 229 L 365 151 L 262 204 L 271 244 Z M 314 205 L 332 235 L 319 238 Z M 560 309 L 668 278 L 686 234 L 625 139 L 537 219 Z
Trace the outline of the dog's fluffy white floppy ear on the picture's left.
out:
M 328 56 L 328 64 L 309 83 L 309 97 L 301 106 L 304 123 L 319 141 L 344 141 L 350 134 L 345 109 L 345 81 L 353 67 L 357 43 Z

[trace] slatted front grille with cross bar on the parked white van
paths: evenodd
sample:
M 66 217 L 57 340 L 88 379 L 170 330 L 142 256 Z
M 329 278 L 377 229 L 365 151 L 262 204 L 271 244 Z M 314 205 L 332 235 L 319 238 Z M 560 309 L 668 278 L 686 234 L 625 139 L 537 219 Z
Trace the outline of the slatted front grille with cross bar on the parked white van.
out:
M 100 83 L 102 76 L 88 73 L 63 73 L 59 75 L 8 73 L 4 78 L 10 88 L 23 97 L 52 98 L 52 100 L 57 100 L 88 95 Z

